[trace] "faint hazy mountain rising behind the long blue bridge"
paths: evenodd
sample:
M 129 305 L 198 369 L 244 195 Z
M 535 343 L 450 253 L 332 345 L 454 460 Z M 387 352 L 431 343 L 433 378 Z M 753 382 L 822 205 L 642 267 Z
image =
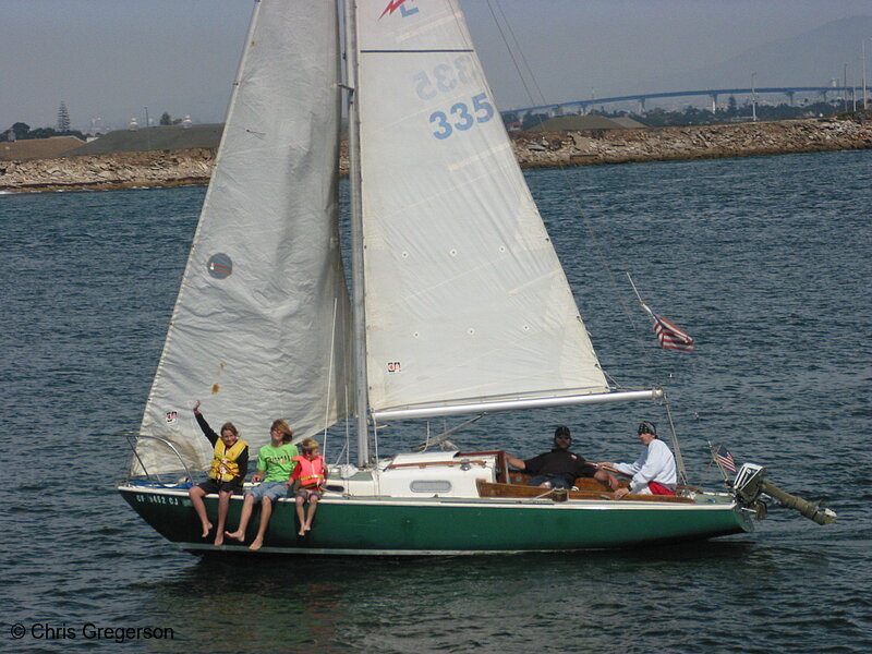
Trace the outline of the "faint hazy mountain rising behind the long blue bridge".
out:
M 872 7 L 872 5 L 871 5 Z M 872 14 L 826 23 L 792 38 L 772 41 L 722 63 L 669 73 L 645 83 L 639 93 L 748 87 L 751 73 L 761 86 L 828 86 L 843 83 L 848 64 L 848 85 L 861 84 L 861 44 L 872 36 Z M 872 81 L 872 41 L 867 41 L 867 84 Z

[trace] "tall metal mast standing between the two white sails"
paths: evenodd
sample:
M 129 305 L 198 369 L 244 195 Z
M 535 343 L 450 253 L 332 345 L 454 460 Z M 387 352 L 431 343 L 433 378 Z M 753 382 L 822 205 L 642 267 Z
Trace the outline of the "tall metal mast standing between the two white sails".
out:
M 366 392 L 366 323 L 363 276 L 363 202 L 361 196 L 361 142 L 358 111 L 358 22 L 356 1 L 346 0 L 346 78 L 348 82 L 348 179 L 351 193 L 351 304 L 354 334 L 354 421 L 358 432 L 358 465 L 370 459 Z

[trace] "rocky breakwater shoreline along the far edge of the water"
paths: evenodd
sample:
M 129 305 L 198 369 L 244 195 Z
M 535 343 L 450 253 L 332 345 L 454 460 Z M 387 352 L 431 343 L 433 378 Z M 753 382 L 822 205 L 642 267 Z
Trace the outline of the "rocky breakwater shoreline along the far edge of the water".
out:
M 872 148 L 872 122 L 807 119 L 607 132 L 525 132 L 512 138 L 522 168 L 711 159 Z M 0 192 L 205 184 L 215 150 L 113 153 L 0 161 Z M 342 153 L 340 170 L 344 169 Z

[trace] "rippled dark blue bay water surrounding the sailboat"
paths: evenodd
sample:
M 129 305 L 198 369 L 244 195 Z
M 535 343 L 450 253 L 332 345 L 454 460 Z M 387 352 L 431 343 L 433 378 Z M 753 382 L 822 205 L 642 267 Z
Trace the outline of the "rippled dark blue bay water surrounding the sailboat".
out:
M 723 443 L 835 524 L 773 508 L 753 534 L 559 556 L 179 552 L 116 484 L 205 187 L 3 195 L 0 651 L 872 651 L 872 152 L 526 177 L 604 368 L 666 388 L 690 482 L 723 487 Z M 695 352 L 656 347 L 627 271 Z M 455 443 L 530 457 L 567 424 L 588 459 L 626 461 L 642 419 L 668 432 L 663 407 L 622 405 L 487 416 Z M 380 455 L 420 437 L 390 427 Z

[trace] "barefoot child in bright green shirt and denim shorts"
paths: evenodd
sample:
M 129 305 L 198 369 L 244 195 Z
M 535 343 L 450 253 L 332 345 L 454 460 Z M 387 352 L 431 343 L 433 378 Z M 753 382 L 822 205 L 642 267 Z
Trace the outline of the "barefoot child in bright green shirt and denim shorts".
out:
M 228 538 L 245 542 L 245 528 L 254 510 L 254 502 L 261 502 L 261 528 L 249 549 L 261 549 L 264 544 L 269 518 L 272 516 L 272 502 L 280 497 L 288 497 L 293 482 L 291 473 L 296 468 L 294 457 L 299 456 L 296 446 L 291 443 L 293 432 L 283 420 L 277 420 L 269 428 L 270 443 L 261 448 L 257 453 L 257 472 L 252 475 L 252 482 L 262 482 L 259 485 L 245 492 L 240 514 L 239 528 L 234 532 L 225 532 Z

